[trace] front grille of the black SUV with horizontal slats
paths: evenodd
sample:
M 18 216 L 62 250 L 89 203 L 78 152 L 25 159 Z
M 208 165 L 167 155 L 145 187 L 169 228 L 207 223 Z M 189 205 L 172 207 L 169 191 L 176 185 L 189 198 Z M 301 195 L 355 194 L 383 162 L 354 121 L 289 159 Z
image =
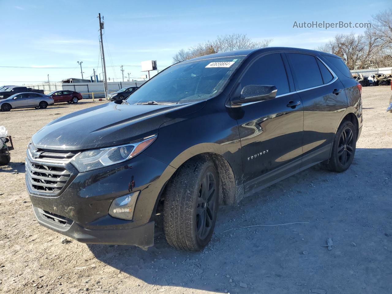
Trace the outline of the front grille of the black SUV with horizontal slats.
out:
M 27 149 L 26 173 L 33 191 L 56 196 L 69 180 L 65 169 L 75 153 L 36 149 L 32 143 Z

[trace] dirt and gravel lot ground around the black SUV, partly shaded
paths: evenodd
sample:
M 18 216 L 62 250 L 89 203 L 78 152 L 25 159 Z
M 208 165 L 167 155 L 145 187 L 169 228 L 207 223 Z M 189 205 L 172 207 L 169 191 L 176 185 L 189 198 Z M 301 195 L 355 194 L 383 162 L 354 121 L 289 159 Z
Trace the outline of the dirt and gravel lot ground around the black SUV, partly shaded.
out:
M 15 144 L 0 168 L 0 292 L 392 293 L 391 94 L 387 86 L 363 88 L 365 122 L 348 171 L 315 166 L 221 207 L 211 243 L 197 253 L 172 249 L 163 235 L 147 251 L 62 244 L 34 218 L 25 149 L 46 123 L 99 102 L 0 113 Z M 293 222 L 309 223 L 225 232 Z M 332 250 L 323 247 L 327 238 Z

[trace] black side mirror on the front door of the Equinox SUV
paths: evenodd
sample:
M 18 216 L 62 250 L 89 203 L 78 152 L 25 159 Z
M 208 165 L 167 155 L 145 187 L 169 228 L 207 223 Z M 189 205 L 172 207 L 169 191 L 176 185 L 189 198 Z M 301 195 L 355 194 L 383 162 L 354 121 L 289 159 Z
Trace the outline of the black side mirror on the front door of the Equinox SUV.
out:
M 232 101 L 234 105 L 274 99 L 276 89 L 273 85 L 247 85 L 243 87 L 239 100 Z

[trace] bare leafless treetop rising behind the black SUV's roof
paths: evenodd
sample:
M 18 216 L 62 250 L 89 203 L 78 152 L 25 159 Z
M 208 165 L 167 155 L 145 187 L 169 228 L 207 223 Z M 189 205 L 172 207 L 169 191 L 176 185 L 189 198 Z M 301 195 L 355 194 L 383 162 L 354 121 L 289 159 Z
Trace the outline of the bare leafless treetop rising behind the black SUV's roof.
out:
M 215 40 L 199 43 L 187 51 L 181 49 L 173 56 L 173 62 L 181 62 L 191 58 L 225 51 L 268 47 L 271 42 L 272 39 L 254 42 L 246 34 L 217 36 Z

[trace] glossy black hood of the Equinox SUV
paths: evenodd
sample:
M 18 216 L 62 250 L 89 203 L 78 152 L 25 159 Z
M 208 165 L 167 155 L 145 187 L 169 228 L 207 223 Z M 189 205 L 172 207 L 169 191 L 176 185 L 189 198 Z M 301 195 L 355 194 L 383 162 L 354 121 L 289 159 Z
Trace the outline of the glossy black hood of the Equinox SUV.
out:
M 162 123 L 198 111 L 204 105 L 205 101 L 174 105 L 105 103 L 53 120 L 32 140 L 35 147 L 52 150 L 120 145 L 156 134 Z

